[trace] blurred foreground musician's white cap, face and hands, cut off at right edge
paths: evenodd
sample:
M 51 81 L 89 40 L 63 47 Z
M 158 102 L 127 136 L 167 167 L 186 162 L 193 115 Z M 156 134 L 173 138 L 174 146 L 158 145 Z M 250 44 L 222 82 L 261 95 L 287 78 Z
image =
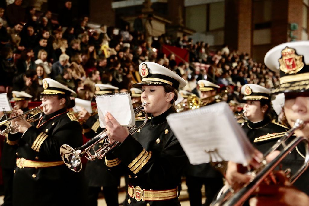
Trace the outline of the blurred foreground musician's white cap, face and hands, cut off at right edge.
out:
M 296 130 L 294 134 L 297 137 L 306 138 L 309 138 L 309 90 L 308 84 L 305 83 L 309 80 L 307 65 L 309 62 L 306 59 L 309 55 L 308 48 L 308 41 L 288 42 L 272 48 L 264 59 L 268 68 L 280 69 L 280 86 L 275 90 L 275 93 L 285 94 L 284 112 L 291 127 L 297 119 L 305 122 L 304 126 Z M 300 148 L 299 150 L 304 154 Z M 256 156 L 254 159 L 260 158 L 261 156 Z M 271 158 L 271 156 L 268 157 L 270 160 Z M 255 160 L 252 160 L 252 163 L 256 162 Z M 227 180 L 234 183 L 249 181 L 250 177 L 241 174 L 235 166 L 232 163 L 228 169 Z M 295 182 L 302 183 L 303 187 L 298 187 L 301 191 L 293 187 L 282 172 L 276 173 L 276 178 L 279 180 L 277 185 L 261 184 L 259 186 L 256 191 L 258 196 L 250 199 L 250 205 L 308 205 L 308 169 Z

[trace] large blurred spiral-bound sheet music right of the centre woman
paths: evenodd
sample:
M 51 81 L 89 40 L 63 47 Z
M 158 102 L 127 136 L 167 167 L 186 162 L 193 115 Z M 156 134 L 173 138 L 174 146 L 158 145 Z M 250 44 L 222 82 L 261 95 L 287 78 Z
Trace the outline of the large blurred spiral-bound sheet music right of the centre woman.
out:
M 193 165 L 251 160 L 254 148 L 225 102 L 171 114 L 167 122 Z

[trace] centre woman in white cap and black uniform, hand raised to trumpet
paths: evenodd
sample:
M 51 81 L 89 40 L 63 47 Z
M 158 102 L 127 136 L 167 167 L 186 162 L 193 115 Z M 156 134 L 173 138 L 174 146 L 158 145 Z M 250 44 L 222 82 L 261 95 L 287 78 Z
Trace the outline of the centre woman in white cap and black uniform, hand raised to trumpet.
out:
M 151 114 L 151 119 L 132 136 L 107 111 L 109 138 L 121 144 L 105 156 L 105 163 L 112 171 L 116 166 L 124 166 L 129 174 L 124 205 L 180 205 L 177 187 L 187 157 L 166 117 L 176 111 L 177 89 L 186 83 L 154 62 L 143 62 L 139 71 L 142 82 L 133 86 L 142 88 L 141 100 L 147 103 L 144 110 Z

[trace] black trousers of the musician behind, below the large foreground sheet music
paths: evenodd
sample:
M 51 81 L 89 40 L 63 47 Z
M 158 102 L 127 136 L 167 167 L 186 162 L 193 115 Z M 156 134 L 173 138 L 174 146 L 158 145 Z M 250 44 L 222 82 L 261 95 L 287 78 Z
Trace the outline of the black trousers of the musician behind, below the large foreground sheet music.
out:
M 189 201 L 191 206 L 202 206 L 201 188 L 205 185 L 206 202 L 203 206 L 208 206 L 214 200 L 215 195 L 223 187 L 223 180 L 218 178 L 186 177 Z

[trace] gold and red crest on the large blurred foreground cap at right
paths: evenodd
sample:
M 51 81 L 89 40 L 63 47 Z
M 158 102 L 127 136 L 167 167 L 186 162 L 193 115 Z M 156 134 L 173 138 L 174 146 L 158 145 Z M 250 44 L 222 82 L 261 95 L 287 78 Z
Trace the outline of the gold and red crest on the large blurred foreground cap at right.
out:
M 295 74 L 303 69 L 303 55 L 297 55 L 294 48 L 286 47 L 281 51 L 281 55 L 279 64 L 284 73 Z

